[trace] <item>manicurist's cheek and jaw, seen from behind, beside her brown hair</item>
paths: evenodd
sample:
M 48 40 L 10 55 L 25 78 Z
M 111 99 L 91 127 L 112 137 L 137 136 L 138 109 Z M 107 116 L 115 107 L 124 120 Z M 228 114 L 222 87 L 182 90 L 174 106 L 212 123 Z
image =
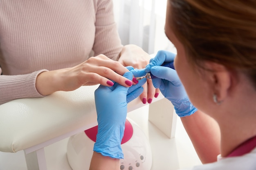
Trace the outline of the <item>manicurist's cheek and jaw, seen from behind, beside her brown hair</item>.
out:
M 212 102 L 212 94 L 208 87 L 209 85 L 207 85 L 207 80 L 204 78 L 204 76 L 197 71 L 197 68 L 193 67 L 193 65 L 189 63 L 184 46 L 174 35 L 170 23 L 170 11 L 171 4 L 168 0 L 165 33 L 168 39 L 177 49 L 177 56 L 174 60 L 175 70 L 177 71 L 177 74 L 180 77 L 180 80 L 186 89 L 186 93 L 188 94 L 193 105 L 201 111 L 206 112 L 209 109 L 209 107 L 205 107 L 209 104 L 207 102 Z

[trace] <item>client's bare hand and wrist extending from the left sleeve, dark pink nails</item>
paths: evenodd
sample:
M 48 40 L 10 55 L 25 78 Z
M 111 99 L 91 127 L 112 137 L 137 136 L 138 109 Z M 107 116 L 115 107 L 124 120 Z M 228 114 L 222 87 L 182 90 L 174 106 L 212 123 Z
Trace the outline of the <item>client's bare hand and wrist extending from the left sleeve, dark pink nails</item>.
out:
M 127 71 L 118 61 L 100 54 L 72 68 L 40 73 L 36 78 L 36 89 L 40 94 L 48 95 L 56 91 L 72 91 L 83 85 L 112 86 L 112 81 L 130 87 L 132 81 L 122 76 Z

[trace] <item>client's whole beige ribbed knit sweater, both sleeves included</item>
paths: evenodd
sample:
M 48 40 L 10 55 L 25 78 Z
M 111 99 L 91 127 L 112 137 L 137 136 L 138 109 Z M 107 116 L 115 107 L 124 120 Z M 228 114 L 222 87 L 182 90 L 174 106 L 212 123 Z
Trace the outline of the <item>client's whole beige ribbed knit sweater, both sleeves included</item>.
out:
M 122 45 L 111 0 L 0 0 L 0 104 L 42 97 L 36 76 Z

